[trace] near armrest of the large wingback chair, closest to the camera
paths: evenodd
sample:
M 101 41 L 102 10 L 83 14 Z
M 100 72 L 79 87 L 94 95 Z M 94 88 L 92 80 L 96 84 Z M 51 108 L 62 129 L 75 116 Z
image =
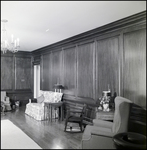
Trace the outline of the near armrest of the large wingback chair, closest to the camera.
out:
M 91 131 L 91 135 L 97 135 L 97 136 L 104 136 L 104 137 L 112 138 L 115 134 L 112 132 L 106 132 L 106 131 L 100 131 L 100 130 L 93 129 Z

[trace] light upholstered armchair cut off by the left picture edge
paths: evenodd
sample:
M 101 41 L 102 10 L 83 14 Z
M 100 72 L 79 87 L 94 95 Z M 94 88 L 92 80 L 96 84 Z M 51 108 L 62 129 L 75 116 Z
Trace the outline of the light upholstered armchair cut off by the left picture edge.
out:
M 6 91 L 1 91 L 1 104 L 5 106 L 5 110 L 11 110 L 11 102 L 10 98 L 6 96 Z

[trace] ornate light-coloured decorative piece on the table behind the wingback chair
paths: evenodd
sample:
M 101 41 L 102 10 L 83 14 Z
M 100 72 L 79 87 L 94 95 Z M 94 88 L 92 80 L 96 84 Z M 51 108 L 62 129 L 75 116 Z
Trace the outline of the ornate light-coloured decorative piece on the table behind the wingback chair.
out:
M 109 102 L 111 100 L 111 92 L 109 91 L 103 91 L 102 97 L 99 98 L 100 100 L 100 106 L 98 107 L 99 110 L 103 111 L 109 111 Z

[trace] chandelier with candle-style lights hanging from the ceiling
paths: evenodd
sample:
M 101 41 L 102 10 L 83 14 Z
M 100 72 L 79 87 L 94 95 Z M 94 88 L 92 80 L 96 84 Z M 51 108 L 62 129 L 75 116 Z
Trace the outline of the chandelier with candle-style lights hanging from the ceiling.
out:
M 3 51 L 3 54 L 7 51 L 10 51 L 12 53 L 18 52 L 18 50 L 20 49 L 19 38 L 14 40 L 14 36 L 12 34 L 11 42 L 9 44 L 7 30 L 5 28 L 5 24 L 8 22 L 8 20 L 3 19 L 1 20 L 1 22 L 3 24 L 1 29 L 1 51 Z

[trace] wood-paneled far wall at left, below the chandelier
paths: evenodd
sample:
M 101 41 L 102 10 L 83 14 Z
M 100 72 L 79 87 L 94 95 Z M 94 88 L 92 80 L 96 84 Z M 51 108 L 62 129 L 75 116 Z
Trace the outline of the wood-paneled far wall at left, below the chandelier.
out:
M 1 53 L 1 90 L 12 102 L 26 104 L 33 98 L 31 53 Z

